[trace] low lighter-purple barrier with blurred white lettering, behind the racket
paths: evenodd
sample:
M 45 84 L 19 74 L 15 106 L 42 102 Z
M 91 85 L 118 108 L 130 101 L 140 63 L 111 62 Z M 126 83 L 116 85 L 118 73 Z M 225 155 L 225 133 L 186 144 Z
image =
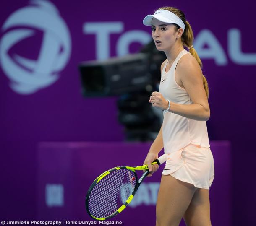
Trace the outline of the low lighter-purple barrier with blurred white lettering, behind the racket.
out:
M 141 165 L 150 145 L 151 143 L 124 142 L 39 143 L 37 220 L 62 221 L 69 218 L 93 221 L 86 214 L 84 204 L 91 183 L 102 172 L 115 166 Z M 215 166 L 214 183 L 210 188 L 212 225 L 231 226 L 230 143 L 212 141 L 210 145 Z M 154 225 L 155 204 L 163 168 L 163 165 L 160 166 L 153 177 L 146 178 L 130 205 L 110 221 L 122 221 L 122 225 Z M 137 174 L 138 177 L 141 176 L 141 172 Z M 141 217 L 142 215 L 147 217 Z

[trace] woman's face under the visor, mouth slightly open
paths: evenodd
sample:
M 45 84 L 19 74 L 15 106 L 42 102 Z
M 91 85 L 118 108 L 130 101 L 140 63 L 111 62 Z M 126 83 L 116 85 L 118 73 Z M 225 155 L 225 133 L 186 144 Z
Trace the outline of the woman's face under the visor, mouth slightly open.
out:
M 152 20 L 152 38 L 154 39 L 157 50 L 168 51 L 174 45 L 178 31 L 172 23 L 165 23 L 153 18 Z M 160 41 L 157 43 L 157 41 Z

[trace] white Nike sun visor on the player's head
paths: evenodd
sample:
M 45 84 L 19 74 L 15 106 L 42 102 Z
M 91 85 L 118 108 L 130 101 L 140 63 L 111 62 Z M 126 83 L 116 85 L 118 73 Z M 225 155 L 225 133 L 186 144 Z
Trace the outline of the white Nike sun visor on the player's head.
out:
M 185 24 L 183 21 L 177 15 L 168 10 L 159 9 L 155 11 L 154 15 L 147 15 L 142 23 L 146 26 L 151 26 L 153 18 L 165 23 L 176 23 L 183 29 L 183 31 L 185 30 Z

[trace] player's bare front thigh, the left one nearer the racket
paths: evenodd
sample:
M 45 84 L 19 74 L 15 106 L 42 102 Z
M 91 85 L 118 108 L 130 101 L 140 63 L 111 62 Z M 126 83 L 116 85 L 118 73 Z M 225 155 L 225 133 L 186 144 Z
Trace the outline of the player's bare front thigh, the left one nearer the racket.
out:
M 178 226 L 196 187 L 170 175 L 162 175 L 157 198 L 157 226 Z

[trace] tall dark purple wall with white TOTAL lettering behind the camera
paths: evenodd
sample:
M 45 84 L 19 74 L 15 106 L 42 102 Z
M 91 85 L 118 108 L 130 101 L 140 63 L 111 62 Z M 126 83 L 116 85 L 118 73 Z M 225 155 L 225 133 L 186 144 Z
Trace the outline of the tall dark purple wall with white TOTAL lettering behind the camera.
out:
M 170 1 L 144 0 L 125 6 L 120 1 L 39 2 L 40 7 L 36 1 L 32 5 L 4 1 L 0 9 L 0 213 L 12 220 L 36 216 L 38 142 L 123 140 L 116 97 L 84 99 L 77 65 L 122 55 L 127 49 L 119 44 L 131 32 L 138 40 L 147 40 L 150 28 L 142 25 L 142 19 L 170 5 Z M 256 45 L 251 37 L 256 35 L 255 3 L 174 0 L 171 4 L 185 12 L 204 64 L 210 87 L 209 138 L 231 141 L 232 225 L 253 225 Z M 113 25 L 109 42 L 108 36 L 99 42 L 90 34 L 95 32 L 92 29 L 103 31 L 97 27 L 103 22 Z M 103 27 L 111 29 L 111 23 Z M 138 40 L 131 40 L 129 52 L 138 51 L 142 45 Z M 21 209 L 28 210 L 26 216 Z

